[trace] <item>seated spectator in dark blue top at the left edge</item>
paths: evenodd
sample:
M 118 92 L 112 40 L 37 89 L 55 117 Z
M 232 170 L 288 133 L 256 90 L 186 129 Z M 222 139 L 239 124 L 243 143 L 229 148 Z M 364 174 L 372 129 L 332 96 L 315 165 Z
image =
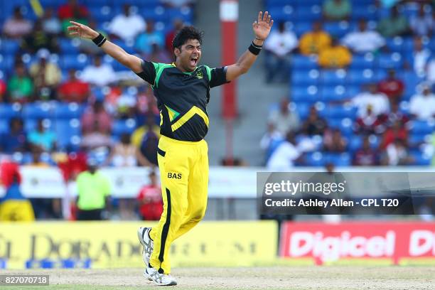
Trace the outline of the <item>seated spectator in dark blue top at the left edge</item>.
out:
M 28 144 L 23 130 L 23 120 L 12 118 L 9 121 L 9 132 L 1 136 L 0 151 L 6 154 L 27 151 Z

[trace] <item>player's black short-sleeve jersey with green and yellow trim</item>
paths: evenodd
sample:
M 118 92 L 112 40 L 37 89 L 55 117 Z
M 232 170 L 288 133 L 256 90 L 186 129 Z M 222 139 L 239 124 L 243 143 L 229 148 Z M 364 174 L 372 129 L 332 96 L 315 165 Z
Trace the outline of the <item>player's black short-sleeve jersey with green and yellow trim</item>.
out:
M 184 73 L 174 64 L 142 61 L 137 73 L 149 82 L 160 110 L 160 134 L 181 141 L 200 141 L 208 131 L 210 88 L 223 85 L 226 67 L 198 66 Z

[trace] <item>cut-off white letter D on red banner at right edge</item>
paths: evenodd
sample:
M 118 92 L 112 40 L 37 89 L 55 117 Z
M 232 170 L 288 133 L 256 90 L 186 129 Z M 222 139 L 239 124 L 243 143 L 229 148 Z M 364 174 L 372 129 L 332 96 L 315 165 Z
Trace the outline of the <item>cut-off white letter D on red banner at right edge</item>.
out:
M 409 237 L 409 256 L 435 256 L 435 232 L 413 230 Z

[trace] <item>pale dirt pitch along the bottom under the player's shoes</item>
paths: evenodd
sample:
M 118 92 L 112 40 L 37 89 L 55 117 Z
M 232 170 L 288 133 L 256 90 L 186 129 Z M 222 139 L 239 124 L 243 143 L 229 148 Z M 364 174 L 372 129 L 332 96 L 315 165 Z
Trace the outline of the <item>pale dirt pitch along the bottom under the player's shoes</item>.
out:
M 0 274 L 18 274 L 1 271 Z M 50 286 L 1 286 L 3 289 L 153 289 L 141 269 L 28 270 L 48 274 Z M 435 267 L 249 267 L 173 269 L 178 286 L 171 289 L 435 289 Z M 153 287 L 153 288 L 151 288 Z

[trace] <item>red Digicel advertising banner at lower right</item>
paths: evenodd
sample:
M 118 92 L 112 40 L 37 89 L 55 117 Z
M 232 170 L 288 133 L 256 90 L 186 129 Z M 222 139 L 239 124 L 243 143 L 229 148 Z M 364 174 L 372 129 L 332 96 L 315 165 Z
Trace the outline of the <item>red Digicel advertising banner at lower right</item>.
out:
M 435 222 L 286 222 L 281 257 L 312 257 L 317 264 L 346 258 L 435 259 Z

